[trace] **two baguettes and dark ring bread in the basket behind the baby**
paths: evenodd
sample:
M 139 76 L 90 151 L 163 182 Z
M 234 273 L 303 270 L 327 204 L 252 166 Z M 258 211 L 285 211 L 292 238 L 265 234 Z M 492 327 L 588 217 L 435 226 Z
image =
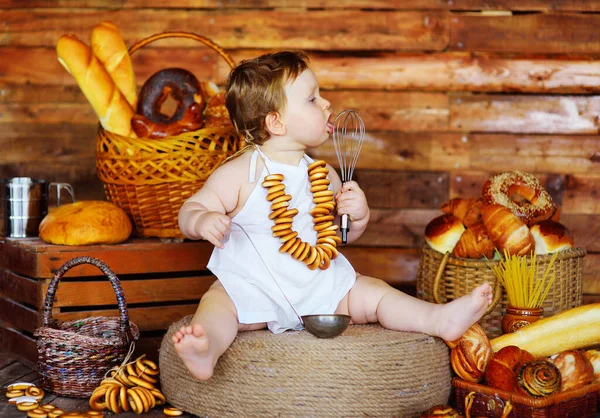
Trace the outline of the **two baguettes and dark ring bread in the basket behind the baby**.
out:
M 56 52 L 106 131 L 162 139 L 231 126 L 224 92 L 183 68 L 157 71 L 144 82 L 138 96 L 129 51 L 111 22 L 92 29 L 90 46 L 75 35 L 61 36 Z

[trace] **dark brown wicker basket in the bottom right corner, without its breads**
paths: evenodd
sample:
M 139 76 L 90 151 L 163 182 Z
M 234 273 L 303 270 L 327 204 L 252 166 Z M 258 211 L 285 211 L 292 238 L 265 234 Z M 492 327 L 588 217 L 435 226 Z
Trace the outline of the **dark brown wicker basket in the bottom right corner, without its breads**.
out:
M 598 383 L 543 398 L 521 395 L 452 379 L 458 413 L 468 417 L 498 418 L 593 418 L 596 416 Z

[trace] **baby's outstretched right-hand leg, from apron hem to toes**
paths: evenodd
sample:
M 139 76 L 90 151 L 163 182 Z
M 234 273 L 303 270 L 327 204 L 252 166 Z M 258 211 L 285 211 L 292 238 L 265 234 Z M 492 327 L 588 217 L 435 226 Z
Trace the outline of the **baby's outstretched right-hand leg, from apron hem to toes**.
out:
M 348 313 L 355 324 L 379 322 L 388 329 L 423 332 L 453 341 L 483 316 L 491 302 L 492 288 L 487 283 L 470 295 L 435 304 L 359 274 L 336 313 Z

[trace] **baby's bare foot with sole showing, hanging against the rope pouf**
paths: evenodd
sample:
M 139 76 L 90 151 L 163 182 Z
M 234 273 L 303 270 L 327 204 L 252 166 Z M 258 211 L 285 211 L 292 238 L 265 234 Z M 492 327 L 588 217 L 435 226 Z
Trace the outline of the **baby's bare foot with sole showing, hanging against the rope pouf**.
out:
M 199 380 L 210 379 L 215 363 L 204 328 L 199 324 L 181 327 L 172 339 L 175 351 L 190 373 Z

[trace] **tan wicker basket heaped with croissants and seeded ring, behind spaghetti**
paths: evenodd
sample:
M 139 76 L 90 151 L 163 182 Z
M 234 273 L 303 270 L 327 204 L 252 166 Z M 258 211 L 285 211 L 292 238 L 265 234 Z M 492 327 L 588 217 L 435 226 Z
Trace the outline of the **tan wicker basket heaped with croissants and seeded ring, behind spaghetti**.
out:
M 499 255 L 522 256 L 530 263 L 535 254 L 539 275 L 546 270 L 556 275 L 543 301 L 544 316 L 582 304 L 586 251 L 575 246 L 560 223 L 560 211 L 534 176 L 518 171 L 494 175 L 481 196 L 455 198 L 441 209 L 444 214 L 425 228 L 419 298 L 445 303 L 489 283 L 494 299 L 480 324 L 496 337 L 509 301 L 493 267 Z

